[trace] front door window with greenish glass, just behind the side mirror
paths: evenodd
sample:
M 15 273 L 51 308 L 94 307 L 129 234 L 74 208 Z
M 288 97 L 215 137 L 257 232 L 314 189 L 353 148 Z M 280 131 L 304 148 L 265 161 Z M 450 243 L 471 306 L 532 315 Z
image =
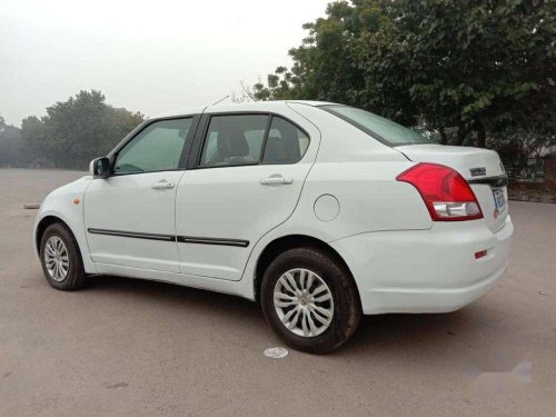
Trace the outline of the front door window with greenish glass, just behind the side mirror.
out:
M 147 126 L 118 152 L 115 173 L 178 169 L 191 121 L 192 118 L 171 119 Z

